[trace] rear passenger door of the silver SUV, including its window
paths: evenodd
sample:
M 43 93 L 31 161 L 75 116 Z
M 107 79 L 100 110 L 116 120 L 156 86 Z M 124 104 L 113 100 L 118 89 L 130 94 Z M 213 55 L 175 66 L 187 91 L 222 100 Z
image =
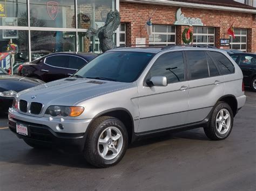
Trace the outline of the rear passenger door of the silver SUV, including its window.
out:
M 207 51 L 185 51 L 188 65 L 188 123 L 203 121 L 224 95 L 224 77 Z

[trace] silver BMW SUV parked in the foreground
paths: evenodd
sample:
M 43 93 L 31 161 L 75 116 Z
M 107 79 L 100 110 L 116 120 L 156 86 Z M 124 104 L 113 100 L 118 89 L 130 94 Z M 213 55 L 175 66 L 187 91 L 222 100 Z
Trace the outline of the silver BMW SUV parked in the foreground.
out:
M 242 77 L 219 49 L 112 49 L 69 78 L 19 93 L 9 127 L 32 147 L 75 146 L 109 167 L 153 133 L 204 128 L 212 140 L 227 138 L 246 100 Z

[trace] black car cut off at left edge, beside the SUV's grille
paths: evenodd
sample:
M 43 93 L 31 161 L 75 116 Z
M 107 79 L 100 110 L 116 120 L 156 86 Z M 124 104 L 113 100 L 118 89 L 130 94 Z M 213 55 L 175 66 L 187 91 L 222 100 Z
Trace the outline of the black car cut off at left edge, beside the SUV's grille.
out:
M 28 89 L 44 83 L 41 80 L 29 79 L 17 75 L 9 75 L 3 68 L 0 68 L 0 112 L 8 112 L 14 96 L 24 89 Z

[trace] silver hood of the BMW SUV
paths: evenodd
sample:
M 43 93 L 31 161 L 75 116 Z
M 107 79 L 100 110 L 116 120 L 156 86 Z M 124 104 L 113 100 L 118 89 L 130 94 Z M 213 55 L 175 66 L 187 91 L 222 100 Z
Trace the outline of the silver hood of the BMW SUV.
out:
M 131 86 L 131 84 L 132 83 L 69 77 L 24 90 L 19 93 L 18 96 L 19 99 L 28 102 L 39 102 L 48 106 L 71 106 L 82 100 L 124 89 Z M 33 96 L 36 96 L 36 98 L 32 99 L 31 97 Z

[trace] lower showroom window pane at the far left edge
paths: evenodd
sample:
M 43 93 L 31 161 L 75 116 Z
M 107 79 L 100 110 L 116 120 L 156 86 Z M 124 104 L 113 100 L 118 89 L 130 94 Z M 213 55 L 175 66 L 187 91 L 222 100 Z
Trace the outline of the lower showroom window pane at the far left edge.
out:
M 29 61 L 28 31 L 0 30 L 0 67 L 9 69 Z

